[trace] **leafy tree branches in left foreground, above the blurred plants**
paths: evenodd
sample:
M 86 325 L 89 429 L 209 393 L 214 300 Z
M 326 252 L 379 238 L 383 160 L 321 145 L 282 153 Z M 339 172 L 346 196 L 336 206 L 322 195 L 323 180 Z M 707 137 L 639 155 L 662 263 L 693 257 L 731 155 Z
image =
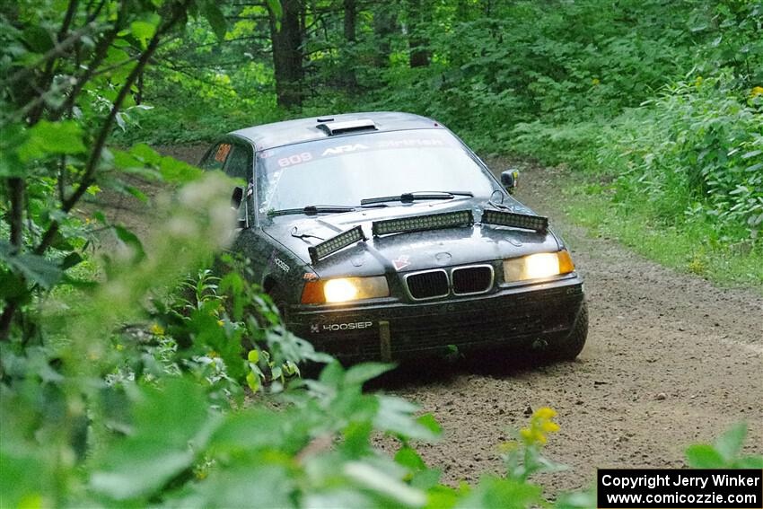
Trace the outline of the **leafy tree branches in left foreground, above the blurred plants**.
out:
M 202 6 L 202 15 L 219 27 L 219 9 L 201 0 L 31 1 L 0 8 L 0 232 L 8 235 L 0 248 L 0 340 L 12 332 L 30 340 L 39 324 L 23 318 L 37 299 L 57 284 L 78 283 L 67 271 L 94 240 L 93 225 L 78 214 L 83 197 L 102 186 L 145 199 L 124 173 L 166 181 L 197 177 L 197 170 L 147 146 L 112 152 L 107 140 L 140 109 L 134 87 L 161 40 Z M 134 233 L 93 215 L 142 256 Z

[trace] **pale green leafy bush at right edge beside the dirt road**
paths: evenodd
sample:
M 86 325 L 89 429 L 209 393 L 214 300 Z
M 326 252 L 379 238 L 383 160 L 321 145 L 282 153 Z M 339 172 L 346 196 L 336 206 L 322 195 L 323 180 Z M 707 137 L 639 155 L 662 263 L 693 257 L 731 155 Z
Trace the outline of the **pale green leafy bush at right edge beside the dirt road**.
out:
M 728 79 L 697 78 L 618 118 L 601 136 L 598 158 L 618 175 L 613 200 L 638 194 L 668 221 L 705 221 L 722 241 L 756 239 L 763 224 L 763 101 L 745 99 Z

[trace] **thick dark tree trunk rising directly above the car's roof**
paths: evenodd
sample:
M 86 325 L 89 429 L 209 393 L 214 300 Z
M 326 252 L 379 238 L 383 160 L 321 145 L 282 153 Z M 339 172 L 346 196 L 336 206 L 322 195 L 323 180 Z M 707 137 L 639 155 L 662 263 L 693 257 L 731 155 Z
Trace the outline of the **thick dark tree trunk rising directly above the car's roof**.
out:
M 276 77 L 278 106 L 294 108 L 302 106 L 303 49 L 300 0 L 281 0 L 282 15 L 276 19 L 270 12 L 270 39 L 273 43 L 273 68 Z M 280 27 L 277 26 L 280 21 Z

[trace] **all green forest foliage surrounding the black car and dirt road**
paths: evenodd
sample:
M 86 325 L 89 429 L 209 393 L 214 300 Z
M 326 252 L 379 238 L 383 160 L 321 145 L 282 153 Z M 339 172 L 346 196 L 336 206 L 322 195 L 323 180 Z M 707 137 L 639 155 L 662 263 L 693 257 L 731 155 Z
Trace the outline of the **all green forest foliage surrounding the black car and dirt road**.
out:
M 434 417 L 364 391 L 390 365 L 346 369 L 294 337 L 246 260 L 206 268 L 230 240 L 230 182 L 134 142 L 204 140 L 307 112 L 414 110 L 481 149 L 611 182 L 584 189 L 598 198 L 589 214 L 599 204 L 600 217 L 614 208 L 755 257 L 763 8 L 423 5 L 364 5 L 347 44 L 340 10 L 311 4 L 300 113 L 274 108 L 260 34 L 279 26 L 276 0 L 3 4 L 0 505 L 594 506 L 588 492 L 550 504 L 534 482 L 562 468 L 542 453 L 558 428 L 549 408 L 501 445 L 503 476 L 440 484 L 416 451 L 440 437 Z M 428 65 L 410 66 L 412 49 Z M 150 203 L 162 223 L 146 238 L 78 208 L 100 189 L 149 203 L 127 176 L 182 185 Z M 118 240 L 101 261 L 98 230 Z M 702 272 L 710 262 L 694 255 Z M 317 380 L 301 377 L 306 361 L 326 364 Z M 760 468 L 741 456 L 745 434 L 690 447 L 689 465 Z

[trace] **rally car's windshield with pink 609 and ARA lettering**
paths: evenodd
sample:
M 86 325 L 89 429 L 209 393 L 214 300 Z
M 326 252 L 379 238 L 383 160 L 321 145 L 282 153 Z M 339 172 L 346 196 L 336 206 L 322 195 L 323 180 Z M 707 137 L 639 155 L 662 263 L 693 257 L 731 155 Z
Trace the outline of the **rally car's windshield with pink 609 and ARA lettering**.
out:
M 341 136 L 269 149 L 258 158 L 262 213 L 360 206 L 364 198 L 417 191 L 487 198 L 497 189 L 487 171 L 444 129 Z

